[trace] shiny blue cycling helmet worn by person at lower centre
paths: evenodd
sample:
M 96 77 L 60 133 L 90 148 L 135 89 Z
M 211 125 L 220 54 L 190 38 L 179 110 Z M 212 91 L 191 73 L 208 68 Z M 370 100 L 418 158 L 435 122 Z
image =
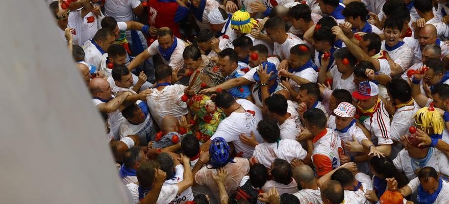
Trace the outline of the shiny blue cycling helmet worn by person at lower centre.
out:
M 228 162 L 234 163 L 234 158 L 231 158 L 231 150 L 228 142 L 221 137 L 212 140 L 209 147 L 209 156 L 209 164 L 212 165 L 212 168 L 220 168 L 228 164 Z

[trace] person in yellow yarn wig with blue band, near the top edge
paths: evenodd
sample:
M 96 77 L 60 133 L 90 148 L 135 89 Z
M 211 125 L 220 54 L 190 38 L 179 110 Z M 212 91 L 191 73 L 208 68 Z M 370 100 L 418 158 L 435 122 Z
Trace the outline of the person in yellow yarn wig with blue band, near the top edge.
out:
M 244 9 L 234 12 L 231 18 L 231 28 L 234 30 L 237 37 L 246 35 L 253 40 L 253 45 L 263 44 L 267 46 L 268 54 L 273 54 L 272 43 L 268 43 L 262 39 L 257 39 L 250 34 L 253 29 L 257 28 L 257 21 L 254 18 L 251 18 L 250 13 Z

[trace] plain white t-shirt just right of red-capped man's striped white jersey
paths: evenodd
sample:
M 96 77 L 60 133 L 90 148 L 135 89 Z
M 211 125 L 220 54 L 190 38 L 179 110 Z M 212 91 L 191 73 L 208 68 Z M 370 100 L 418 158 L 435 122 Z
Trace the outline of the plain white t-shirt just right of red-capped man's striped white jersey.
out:
M 418 109 L 418 105 L 413 101 L 412 106 L 403 106 L 396 110 L 390 125 L 391 139 L 394 141 L 401 140 L 401 136 L 405 135 L 409 127 L 414 124 L 413 115 Z

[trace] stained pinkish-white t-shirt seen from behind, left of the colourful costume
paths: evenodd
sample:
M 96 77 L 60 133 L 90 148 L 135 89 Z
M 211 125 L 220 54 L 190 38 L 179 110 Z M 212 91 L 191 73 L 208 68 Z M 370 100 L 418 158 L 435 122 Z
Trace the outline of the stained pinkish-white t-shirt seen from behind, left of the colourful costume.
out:
M 184 85 L 174 84 L 164 87 L 162 91 L 153 89 L 153 93 L 146 97 L 149 112 L 159 126 L 167 115 L 179 119 L 189 113 L 187 104 L 181 100 L 186 88 Z

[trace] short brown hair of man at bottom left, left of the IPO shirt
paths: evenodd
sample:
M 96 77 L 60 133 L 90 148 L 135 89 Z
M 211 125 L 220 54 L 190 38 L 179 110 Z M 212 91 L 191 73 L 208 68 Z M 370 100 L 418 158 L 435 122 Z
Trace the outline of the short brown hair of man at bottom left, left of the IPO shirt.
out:
M 133 147 L 134 148 L 134 147 Z M 140 147 L 137 147 L 140 148 Z M 136 171 L 137 181 L 139 186 L 143 188 L 151 188 L 155 180 L 156 169 L 159 168 L 159 163 L 155 160 L 146 161 L 139 164 Z

